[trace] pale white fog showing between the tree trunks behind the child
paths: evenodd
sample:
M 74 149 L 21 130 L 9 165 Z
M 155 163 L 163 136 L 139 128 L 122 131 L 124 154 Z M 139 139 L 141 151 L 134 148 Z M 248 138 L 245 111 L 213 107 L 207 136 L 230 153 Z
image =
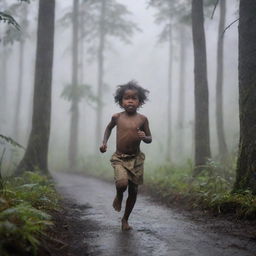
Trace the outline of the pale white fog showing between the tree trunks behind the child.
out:
M 7 7 L 16 1 L 7 1 Z M 104 90 L 103 129 L 114 113 L 122 111 L 114 103 L 113 94 L 116 86 L 136 80 L 142 87 L 150 91 L 149 101 L 139 109 L 139 112 L 149 119 L 153 137 L 152 144 L 141 145 L 141 150 L 146 153 L 148 161 L 154 164 L 165 162 L 167 141 L 167 84 L 169 50 L 167 43 L 158 43 L 162 25 L 155 23 L 157 10 L 149 8 L 147 1 L 118 0 L 131 11 L 132 19 L 141 32 L 136 32 L 131 38 L 131 44 L 124 44 L 116 38 L 109 38 L 111 49 L 106 49 L 104 63 Z M 233 1 L 232 1 L 233 2 Z M 24 3 L 23 3 L 24 4 Z M 24 77 L 22 89 L 22 102 L 20 112 L 20 136 L 18 141 L 26 146 L 31 128 L 32 92 L 34 82 L 35 44 L 37 27 L 38 1 L 31 1 L 29 8 L 29 38 L 25 43 Z M 212 7 L 213 9 L 213 7 Z M 226 25 L 237 18 L 237 4 L 227 3 Z M 72 25 L 61 26 L 58 20 L 66 13 L 72 11 L 72 1 L 56 1 L 56 27 L 55 27 L 55 52 L 52 83 L 52 117 L 50 135 L 50 168 L 61 168 L 67 164 L 69 128 L 70 128 L 70 102 L 61 98 L 63 88 L 71 83 L 72 72 Z M 210 14 L 205 16 L 205 33 L 207 45 L 208 86 L 210 104 L 210 142 L 213 157 L 217 156 L 217 137 L 215 120 L 215 83 L 216 83 L 216 55 L 219 10 L 217 8 L 213 19 Z M 14 15 L 15 16 L 15 15 Z M 19 22 L 19 17 L 15 16 Z M 0 23 L 1 34 L 10 25 Z M 229 152 L 236 152 L 238 146 L 238 23 L 232 25 L 225 32 L 224 40 L 224 126 Z M 174 27 L 174 63 L 172 76 L 172 161 L 176 164 L 185 164 L 188 159 L 194 159 L 193 124 L 194 124 L 194 63 L 191 26 L 187 28 L 187 49 L 185 76 L 185 122 L 183 152 L 177 153 L 177 124 L 178 113 L 178 88 L 179 88 L 179 38 Z M 1 45 L 2 47 L 2 45 Z M 7 47 L 7 46 L 6 46 Z M 97 91 L 97 59 L 91 58 L 86 52 L 87 44 L 84 42 L 85 52 L 83 58 L 83 83 L 89 84 L 93 92 Z M 7 62 L 7 104 L 5 120 L 1 125 L 0 133 L 13 137 L 13 119 L 17 94 L 18 76 L 18 43 L 8 45 L 10 53 Z M 3 47 L 1 49 L 1 56 Z M 94 106 L 93 106 L 94 105 Z M 83 162 L 95 154 L 100 146 L 95 143 L 96 106 L 82 100 L 79 104 L 79 161 Z M 108 142 L 108 151 L 100 158 L 110 158 L 115 151 L 115 131 Z

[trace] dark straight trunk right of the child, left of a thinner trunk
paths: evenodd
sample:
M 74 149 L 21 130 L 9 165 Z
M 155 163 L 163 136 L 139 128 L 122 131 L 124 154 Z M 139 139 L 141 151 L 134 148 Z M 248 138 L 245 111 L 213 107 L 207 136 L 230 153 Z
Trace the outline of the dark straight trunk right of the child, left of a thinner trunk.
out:
M 192 1 L 195 82 L 195 175 L 211 157 L 207 61 L 202 0 Z

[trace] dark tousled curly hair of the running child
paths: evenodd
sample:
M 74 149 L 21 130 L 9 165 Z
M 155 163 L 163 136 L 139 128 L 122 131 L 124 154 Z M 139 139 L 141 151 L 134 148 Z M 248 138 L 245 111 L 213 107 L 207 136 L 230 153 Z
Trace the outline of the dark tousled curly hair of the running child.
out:
M 127 84 L 117 86 L 114 99 L 115 103 L 119 104 L 120 107 L 122 107 L 122 99 L 126 90 L 136 90 L 138 92 L 140 106 L 145 104 L 145 101 L 148 100 L 149 91 L 142 88 L 136 81 L 132 80 Z

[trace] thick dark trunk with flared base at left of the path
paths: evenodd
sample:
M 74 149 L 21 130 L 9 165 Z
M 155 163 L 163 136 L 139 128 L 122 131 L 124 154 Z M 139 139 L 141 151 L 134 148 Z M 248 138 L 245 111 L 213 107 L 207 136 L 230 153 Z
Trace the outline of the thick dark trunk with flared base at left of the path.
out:
M 54 10 L 55 0 L 40 0 L 32 130 L 25 155 L 17 168 L 17 174 L 38 169 L 43 173 L 48 173 Z

